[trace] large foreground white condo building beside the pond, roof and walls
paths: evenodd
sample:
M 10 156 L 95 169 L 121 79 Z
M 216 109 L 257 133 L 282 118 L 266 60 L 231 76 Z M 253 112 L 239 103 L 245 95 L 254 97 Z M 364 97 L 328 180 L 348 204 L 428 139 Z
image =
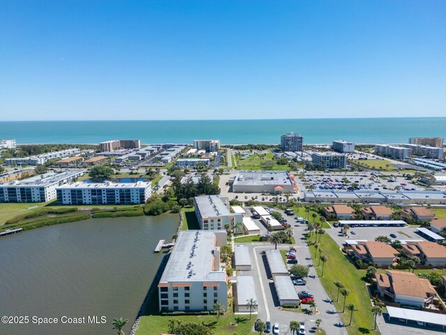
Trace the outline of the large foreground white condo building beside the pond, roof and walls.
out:
M 224 230 L 185 230 L 178 234 L 158 283 L 160 311 L 213 311 L 228 308 L 228 283 L 220 248 Z

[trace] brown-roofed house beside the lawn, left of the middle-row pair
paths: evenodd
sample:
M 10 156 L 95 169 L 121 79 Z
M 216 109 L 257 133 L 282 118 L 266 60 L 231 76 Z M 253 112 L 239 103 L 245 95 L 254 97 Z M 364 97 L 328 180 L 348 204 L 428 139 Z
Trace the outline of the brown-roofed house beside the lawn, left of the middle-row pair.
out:
M 353 254 L 362 260 L 383 267 L 397 261 L 399 252 L 392 246 L 378 241 L 357 241 L 352 246 Z

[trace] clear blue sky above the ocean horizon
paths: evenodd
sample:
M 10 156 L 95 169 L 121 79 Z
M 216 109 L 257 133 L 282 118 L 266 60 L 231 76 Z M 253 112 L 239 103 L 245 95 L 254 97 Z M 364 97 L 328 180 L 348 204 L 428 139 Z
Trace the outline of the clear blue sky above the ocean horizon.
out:
M 0 119 L 445 116 L 445 10 L 0 0 Z

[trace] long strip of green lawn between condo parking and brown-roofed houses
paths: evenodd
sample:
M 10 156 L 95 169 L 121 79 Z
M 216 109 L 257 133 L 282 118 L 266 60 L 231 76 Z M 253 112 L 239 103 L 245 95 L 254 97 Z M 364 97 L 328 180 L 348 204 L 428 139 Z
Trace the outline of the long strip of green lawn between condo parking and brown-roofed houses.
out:
M 352 325 L 346 327 L 348 334 L 379 334 L 379 331 L 374 329 L 374 316 L 371 313 L 371 302 L 369 299 L 369 292 L 365 287 L 365 282 L 362 277 L 365 275 L 365 270 L 357 270 L 347 258 L 339 250 L 339 246 L 328 234 L 321 236 L 321 248 L 323 254 L 327 255 L 328 261 L 325 263 L 324 276 L 321 282 L 325 291 L 327 291 L 330 298 L 334 300 L 334 304 L 339 312 L 342 311 L 344 300 L 339 297 L 339 302 L 336 302 L 337 288 L 334 286 L 334 281 L 340 281 L 345 287 L 351 291 L 348 295 L 346 304 L 354 304 L 358 311 L 353 313 Z M 310 246 L 310 253 L 314 257 L 314 246 Z M 319 254 L 319 253 L 318 253 Z M 314 261 L 316 265 L 316 261 Z M 318 276 L 322 274 L 321 266 L 316 267 Z M 348 325 L 350 315 L 348 313 L 340 313 L 342 320 Z

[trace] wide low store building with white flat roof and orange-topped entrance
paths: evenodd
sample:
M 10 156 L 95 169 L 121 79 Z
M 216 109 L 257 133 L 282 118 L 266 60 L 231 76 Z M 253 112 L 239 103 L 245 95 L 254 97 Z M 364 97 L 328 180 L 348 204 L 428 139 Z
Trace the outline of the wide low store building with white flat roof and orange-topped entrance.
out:
M 232 184 L 234 193 L 293 193 L 293 180 L 284 171 L 239 171 Z

